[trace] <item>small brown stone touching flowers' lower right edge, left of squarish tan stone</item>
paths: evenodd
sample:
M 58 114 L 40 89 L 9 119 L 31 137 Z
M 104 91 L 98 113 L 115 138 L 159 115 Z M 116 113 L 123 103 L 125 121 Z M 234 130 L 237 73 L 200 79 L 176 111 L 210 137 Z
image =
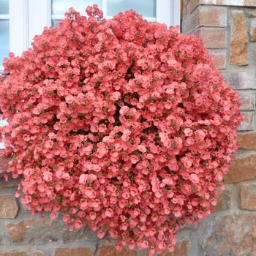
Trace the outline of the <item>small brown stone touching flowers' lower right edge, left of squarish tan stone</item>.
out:
M 214 212 L 223 211 L 230 208 L 231 203 L 231 193 L 233 186 L 226 185 L 225 190 L 220 190 L 217 195 L 217 205 L 213 206 Z

